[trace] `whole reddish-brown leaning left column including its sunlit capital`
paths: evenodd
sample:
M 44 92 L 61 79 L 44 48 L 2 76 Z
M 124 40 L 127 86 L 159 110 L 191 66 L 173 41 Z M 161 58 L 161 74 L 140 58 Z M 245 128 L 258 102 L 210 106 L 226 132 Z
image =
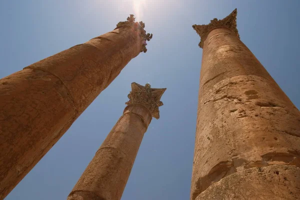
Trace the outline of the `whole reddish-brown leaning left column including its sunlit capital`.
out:
M 0 199 L 121 69 L 146 52 L 151 37 L 130 15 L 110 32 L 0 79 Z

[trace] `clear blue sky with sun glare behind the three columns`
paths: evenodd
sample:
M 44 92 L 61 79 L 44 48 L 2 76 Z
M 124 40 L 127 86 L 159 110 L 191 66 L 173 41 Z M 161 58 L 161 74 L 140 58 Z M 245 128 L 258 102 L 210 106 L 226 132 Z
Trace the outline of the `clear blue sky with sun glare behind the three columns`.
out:
M 121 116 L 133 81 L 167 90 L 122 200 L 188 199 L 202 54 L 191 25 L 223 18 L 235 7 L 241 40 L 299 108 L 299 0 L 145 0 L 143 6 L 132 0 L 1 0 L 0 78 L 108 32 L 130 13 L 153 33 L 148 51 L 128 63 L 6 199 L 65 199 Z

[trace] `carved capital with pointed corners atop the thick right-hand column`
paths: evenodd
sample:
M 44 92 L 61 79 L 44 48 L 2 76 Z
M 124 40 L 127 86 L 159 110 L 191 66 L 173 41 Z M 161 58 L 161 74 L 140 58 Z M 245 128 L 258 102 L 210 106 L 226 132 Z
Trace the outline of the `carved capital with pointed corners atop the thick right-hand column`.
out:
M 226 16 L 223 19 L 217 19 L 214 18 L 210 20 L 210 23 L 207 25 L 192 25 L 193 29 L 200 35 L 200 43 L 199 47 L 203 48 L 203 43 L 208 35 L 208 33 L 217 28 L 217 27 L 226 27 L 231 29 L 233 32 L 235 32 L 236 36 L 239 38 L 239 34 L 236 28 L 236 14 L 237 14 L 237 9 L 235 8 L 228 16 Z

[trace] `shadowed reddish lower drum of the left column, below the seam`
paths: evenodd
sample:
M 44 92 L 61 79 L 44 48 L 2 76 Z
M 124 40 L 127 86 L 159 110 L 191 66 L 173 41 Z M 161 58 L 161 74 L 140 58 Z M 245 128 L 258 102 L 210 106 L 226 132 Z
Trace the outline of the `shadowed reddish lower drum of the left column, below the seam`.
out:
M 27 174 L 77 117 L 55 76 L 24 69 L 0 79 L 0 199 Z

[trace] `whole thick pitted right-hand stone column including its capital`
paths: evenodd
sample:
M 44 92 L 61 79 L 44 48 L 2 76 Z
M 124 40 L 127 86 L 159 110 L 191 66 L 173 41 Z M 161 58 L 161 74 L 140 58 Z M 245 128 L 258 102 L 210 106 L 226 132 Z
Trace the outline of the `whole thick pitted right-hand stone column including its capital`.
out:
M 203 53 L 190 199 L 296 199 L 300 113 L 240 41 L 236 13 L 193 25 Z

